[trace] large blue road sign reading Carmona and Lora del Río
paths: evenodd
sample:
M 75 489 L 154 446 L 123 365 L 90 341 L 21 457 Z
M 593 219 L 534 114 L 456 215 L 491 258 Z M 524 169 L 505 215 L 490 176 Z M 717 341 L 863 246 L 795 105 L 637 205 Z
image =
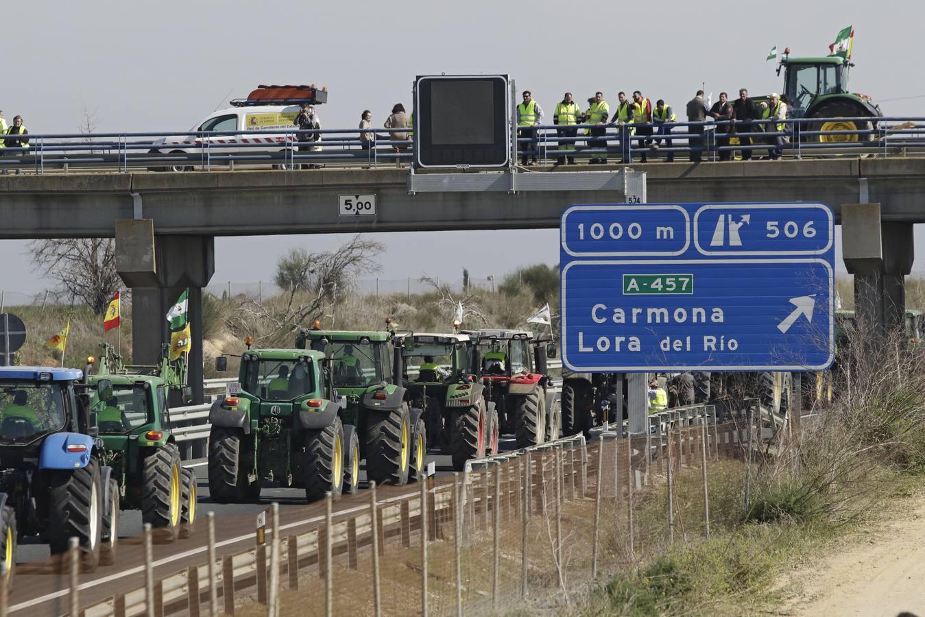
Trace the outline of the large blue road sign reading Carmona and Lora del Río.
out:
M 562 363 L 573 371 L 832 364 L 825 204 L 573 205 L 560 267 Z

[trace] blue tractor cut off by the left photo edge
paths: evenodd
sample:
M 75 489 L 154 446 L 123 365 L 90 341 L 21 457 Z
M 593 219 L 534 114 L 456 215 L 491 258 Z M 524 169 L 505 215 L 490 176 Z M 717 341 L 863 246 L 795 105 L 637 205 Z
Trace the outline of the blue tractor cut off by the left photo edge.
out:
M 0 366 L 0 562 L 8 577 L 20 537 L 42 537 L 53 554 L 77 537 L 84 572 L 115 559 L 118 489 L 99 460 L 82 377 L 74 368 Z M 105 380 L 93 388 L 112 396 Z

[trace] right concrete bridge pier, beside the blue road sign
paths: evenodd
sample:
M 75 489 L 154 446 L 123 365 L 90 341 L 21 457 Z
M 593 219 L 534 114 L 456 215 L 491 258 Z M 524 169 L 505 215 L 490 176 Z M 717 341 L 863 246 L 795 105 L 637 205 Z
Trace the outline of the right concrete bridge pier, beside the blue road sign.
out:
M 855 277 L 857 323 L 870 328 L 873 340 L 901 329 L 915 259 L 912 223 L 882 221 L 880 204 L 843 204 L 842 253 Z

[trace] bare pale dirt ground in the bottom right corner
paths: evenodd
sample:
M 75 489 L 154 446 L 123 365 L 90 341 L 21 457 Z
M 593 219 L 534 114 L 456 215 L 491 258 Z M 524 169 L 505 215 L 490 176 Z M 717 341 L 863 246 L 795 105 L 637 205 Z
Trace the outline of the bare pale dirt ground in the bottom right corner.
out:
M 793 615 L 925 617 L 925 497 L 904 512 L 845 542 L 841 549 L 791 579 Z

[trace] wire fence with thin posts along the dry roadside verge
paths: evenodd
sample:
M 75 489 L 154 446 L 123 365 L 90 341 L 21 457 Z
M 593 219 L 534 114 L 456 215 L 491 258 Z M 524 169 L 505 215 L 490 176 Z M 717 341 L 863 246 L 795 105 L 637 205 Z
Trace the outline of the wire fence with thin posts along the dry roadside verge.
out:
M 747 476 L 746 452 L 769 448 L 758 426 L 715 420 L 710 406 L 675 409 L 650 416 L 645 435 L 605 430 L 590 443 L 563 438 L 416 485 L 370 487 L 290 509 L 285 517 L 274 505 L 265 533 L 254 529 L 253 517 L 222 517 L 222 529 L 244 530 L 243 542 L 216 543 L 209 517 L 173 557 L 159 557 L 149 535 L 130 538 L 117 561 L 125 574 L 109 577 L 116 580 L 108 596 L 84 598 L 76 578 L 65 577 L 55 611 L 564 611 L 586 601 L 597 583 L 628 576 L 675 544 L 709 537 L 710 504 L 722 486 L 710 475 Z M 786 434 L 775 433 L 778 446 Z M 15 595 L 30 592 L 17 588 Z M 0 615 L 7 606 L 25 604 L 12 598 Z

